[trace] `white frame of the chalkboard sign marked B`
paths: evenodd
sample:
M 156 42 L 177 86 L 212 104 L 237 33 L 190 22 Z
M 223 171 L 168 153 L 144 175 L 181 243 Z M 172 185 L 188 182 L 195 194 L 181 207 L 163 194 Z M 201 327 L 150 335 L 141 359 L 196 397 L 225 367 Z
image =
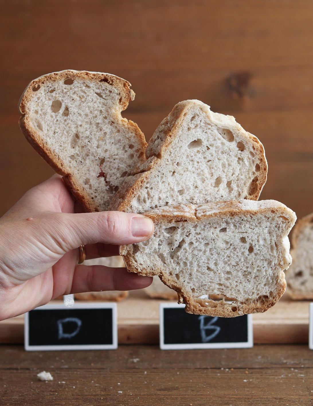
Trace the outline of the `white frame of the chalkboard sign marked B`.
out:
M 208 348 L 252 348 L 253 347 L 253 324 L 252 314 L 248 314 L 248 341 L 238 343 L 192 343 L 192 344 L 164 344 L 164 309 L 185 308 L 185 304 L 180 303 L 160 303 L 160 348 L 161 350 L 200 350 Z

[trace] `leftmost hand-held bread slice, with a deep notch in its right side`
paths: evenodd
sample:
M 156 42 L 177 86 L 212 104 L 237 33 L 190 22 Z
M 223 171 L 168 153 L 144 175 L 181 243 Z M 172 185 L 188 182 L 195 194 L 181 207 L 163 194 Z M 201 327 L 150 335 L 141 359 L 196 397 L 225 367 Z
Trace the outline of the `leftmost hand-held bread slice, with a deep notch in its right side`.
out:
M 145 160 L 145 136 L 121 117 L 134 96 L 117 76 L 73 70 L 32 80 L 21 96 L 23 134 L 86 211 L 107 210 L 132 167 Z

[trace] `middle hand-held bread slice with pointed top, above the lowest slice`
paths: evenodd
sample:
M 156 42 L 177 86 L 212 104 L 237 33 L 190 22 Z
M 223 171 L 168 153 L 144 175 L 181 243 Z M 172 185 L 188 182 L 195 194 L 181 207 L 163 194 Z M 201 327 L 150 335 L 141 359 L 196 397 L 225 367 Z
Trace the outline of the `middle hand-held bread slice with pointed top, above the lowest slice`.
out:
M 266 182 L 263 145 L 234 117 L 198 100 L 178 103 L 159 125 L 113 197 L 110 210 L 144 213 L 179 203 L 258 200 Z M 136 173 L 136 174 L 135 174 Z

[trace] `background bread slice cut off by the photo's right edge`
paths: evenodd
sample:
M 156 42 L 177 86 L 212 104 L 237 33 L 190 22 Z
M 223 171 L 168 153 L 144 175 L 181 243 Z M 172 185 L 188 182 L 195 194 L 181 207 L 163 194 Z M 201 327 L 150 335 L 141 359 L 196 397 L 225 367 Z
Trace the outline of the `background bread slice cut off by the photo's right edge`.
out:
M 303 217 L 292 233 L 292 266 L 286 272 L 286 293 L 296 300 L 313 299 L 313 213 Z

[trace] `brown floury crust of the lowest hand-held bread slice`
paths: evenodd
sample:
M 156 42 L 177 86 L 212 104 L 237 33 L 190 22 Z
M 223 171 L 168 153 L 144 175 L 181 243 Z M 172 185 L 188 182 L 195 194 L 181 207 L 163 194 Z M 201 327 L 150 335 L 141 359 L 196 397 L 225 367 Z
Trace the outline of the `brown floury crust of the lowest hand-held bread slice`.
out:
M 249 202 L 250 206 L 251 203 L 252 202 Z M 286 235 L 289 233 L 290 229 L 294 225 L 294 222 L 296 221 L 295 213 L 277 201 L 270 200 L 260 201 L 258 203 L 255 202 L 255 206 L 255 208 L 248 208 L 245 201 L 208 203 L 198 207 L 192 204 L 177 205 L 151 210 L 146 212 L 145 216 L 151 218 L 151 220 L 153 220 L 155 223 L 167 223 L 169 221 L 174 223 L 181 221 L 196 222 L 200 219 L 210 217 L 226 218 L 227 216 L 247 216 L 256 213 L 266 215 L 271 211 L 275 211 L 277 216 L 283 216 L 285 218 L 285 227 L 287 230 Z M 158 275 L 163 283 L 177 292 L 179 303 L 185 303 L 185 311 L 187 313 L 218 317 L 236 317 L 243 314 L 262 313 L 274 306 L 286 289 L 285 276 L 284 272 L 282 271 L 281 277 L 277 281 L 277 286 L 273 297 L 260 296 L 256 300 L 250 300 L 249 303 L 238 301 L 229 303 L 225 301 L 225 298 L 222 300 L 194 298 L 182 284 L 179 284 L 176 279 L 164 273 L 162 268 L 153 268 L 153 270 L 138 270 L 133 260 L 134 254 L 132 252 L 132 245 L 121 246 L 120 255 L 123 255 L 128 272 L 136 272 L 146 276 Z

